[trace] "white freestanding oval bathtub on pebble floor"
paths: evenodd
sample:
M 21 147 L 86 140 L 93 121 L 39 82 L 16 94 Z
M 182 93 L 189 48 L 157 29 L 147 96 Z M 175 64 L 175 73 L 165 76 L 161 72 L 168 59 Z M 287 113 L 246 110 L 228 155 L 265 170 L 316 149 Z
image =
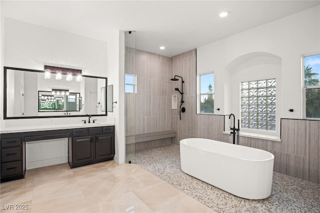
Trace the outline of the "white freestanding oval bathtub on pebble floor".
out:
M 257 148 L 204 138 L 180 140 L 182 171 L 246 199 L 271 194 L 273 159 Z

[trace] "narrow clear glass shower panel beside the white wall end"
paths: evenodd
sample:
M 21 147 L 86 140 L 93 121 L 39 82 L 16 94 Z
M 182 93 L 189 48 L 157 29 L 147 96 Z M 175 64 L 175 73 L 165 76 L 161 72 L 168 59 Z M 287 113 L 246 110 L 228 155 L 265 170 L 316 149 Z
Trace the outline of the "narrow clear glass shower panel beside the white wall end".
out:
M 124 32 L 125 64 L 125 162 L 135 163 L 135 102 L 136 102 L 136 32 Z

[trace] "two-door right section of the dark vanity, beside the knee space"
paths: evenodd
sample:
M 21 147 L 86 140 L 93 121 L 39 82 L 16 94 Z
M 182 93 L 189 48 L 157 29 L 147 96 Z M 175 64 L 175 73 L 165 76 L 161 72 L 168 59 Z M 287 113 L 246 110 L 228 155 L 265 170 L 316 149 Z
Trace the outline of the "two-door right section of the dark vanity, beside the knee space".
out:
M 69 165 L 81 166 L 114 156 L 114 126 L 79 128 L 72 130 L 69 141 Z M 71 144 L 70 144 L 71 143 Z

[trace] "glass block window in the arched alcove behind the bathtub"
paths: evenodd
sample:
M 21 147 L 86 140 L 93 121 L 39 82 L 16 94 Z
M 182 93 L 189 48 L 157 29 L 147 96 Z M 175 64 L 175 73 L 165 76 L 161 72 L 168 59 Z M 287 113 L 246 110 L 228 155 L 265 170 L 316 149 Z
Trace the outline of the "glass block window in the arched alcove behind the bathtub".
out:
M 275 131 L 275 79 L 241 82 L 241 127 Z

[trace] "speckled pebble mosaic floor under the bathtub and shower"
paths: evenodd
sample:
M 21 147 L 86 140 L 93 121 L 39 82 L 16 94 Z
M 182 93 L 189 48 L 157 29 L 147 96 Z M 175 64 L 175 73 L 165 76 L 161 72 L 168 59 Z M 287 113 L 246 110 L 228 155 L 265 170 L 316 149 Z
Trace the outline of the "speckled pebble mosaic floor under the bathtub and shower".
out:
M 135 160 L 142 168 L 217 212 L 320 212 L 320 185 L 288 175 L 273 172 L 271 195 L 249 200 L 184 173 L 178 145 L 137 151 Z

